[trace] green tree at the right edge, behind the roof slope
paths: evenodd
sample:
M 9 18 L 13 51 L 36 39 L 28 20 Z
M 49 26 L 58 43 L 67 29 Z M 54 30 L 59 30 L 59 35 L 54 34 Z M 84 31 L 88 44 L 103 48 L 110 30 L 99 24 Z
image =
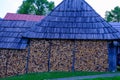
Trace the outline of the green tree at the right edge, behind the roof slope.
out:
M 105 19 L 108 22 L 120 22 L 120 7 L 117 6 L 111 11 L 106 11 Z

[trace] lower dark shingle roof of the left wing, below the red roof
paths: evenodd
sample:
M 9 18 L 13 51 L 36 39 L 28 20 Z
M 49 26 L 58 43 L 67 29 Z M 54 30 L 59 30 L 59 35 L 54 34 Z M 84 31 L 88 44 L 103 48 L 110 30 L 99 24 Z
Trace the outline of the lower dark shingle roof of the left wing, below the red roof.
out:
M 25 49 L 28 39 L 22 38 L 30 27 L 34 26 L 33 21 L 0 21 L 0 48 Z

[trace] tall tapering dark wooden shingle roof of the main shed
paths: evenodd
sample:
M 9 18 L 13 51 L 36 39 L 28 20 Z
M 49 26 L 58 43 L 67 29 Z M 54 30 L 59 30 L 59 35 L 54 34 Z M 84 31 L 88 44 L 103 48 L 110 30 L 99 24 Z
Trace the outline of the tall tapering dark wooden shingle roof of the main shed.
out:
M 44 39 L 117 40 L 120 33 L 84 0 L 63 0 L 24 37 Z

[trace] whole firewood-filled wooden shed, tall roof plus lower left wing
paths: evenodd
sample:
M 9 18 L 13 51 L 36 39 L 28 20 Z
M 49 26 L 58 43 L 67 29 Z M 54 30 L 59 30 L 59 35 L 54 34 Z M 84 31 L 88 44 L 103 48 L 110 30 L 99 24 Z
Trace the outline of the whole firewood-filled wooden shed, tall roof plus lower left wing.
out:
M 116 71 L 115 41 L 119 39 L 119 31 L 85 0 L 63 0 L 38 23 L 0 20 L 0 77 L 46 71 Z

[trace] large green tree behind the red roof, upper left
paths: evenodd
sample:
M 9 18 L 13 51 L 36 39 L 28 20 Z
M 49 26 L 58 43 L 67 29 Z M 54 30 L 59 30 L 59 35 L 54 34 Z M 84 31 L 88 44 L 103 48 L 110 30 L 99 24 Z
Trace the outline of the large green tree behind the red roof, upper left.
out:
M 47 0 L 24 0 L 19 7 L 19 14 L 46 15 L 55 7 L 54 2 Z

